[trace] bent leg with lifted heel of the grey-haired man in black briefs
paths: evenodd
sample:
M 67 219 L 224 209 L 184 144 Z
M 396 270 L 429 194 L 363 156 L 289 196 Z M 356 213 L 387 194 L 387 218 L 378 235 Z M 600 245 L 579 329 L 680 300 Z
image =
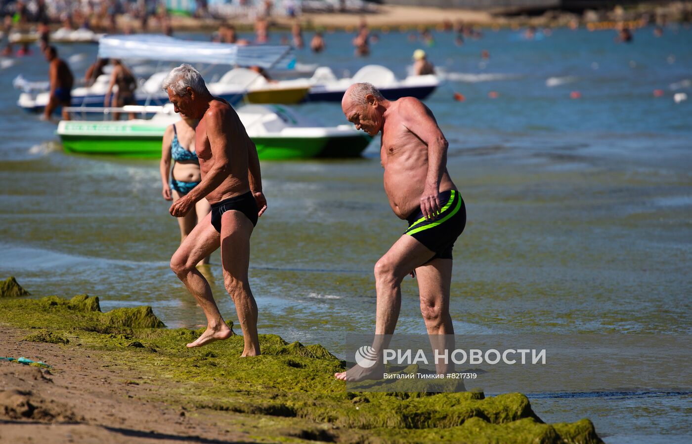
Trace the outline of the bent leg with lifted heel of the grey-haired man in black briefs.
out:
M 207 330 L 188 347 L 197 347 L 215 340 L 226 339 L 231 331 L 219 313 L 212 289 L 207 279 L 195 266 L 203 258 L 211 255 L 219 248 L 221 237 L 211 223 L 211 213 L 207 214 L 201 223 L 188 234 L 185 241 L 171 258 L 171 269 L 179 277 L 190 293 L 197 299 L 197 303 L 207 317 Z

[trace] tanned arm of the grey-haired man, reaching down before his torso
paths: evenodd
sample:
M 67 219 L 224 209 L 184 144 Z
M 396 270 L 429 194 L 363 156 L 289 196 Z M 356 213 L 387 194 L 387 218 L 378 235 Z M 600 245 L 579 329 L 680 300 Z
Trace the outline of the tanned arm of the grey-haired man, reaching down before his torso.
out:
M 171 205 L 170 214 L 173 216 L 182 217 L 188 214 L 194 203 L 217 189 L 230 174 L 228 140 L 237 140 L 237 130 L 235 124 L 224 125 L 224 120 L 228 118 L 228 112 L 230 111 L 214 108 L 209 109 L 204 115 L 213 163 L 199 185 Z

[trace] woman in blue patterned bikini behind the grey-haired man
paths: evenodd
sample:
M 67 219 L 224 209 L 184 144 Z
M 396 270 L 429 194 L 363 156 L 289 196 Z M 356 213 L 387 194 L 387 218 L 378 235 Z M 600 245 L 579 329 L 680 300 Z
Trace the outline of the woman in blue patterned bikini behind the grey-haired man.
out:
M 163 133 L 163 145 L 161 147 L 161 182 L 163 183 L 163 198 L 167 201 L 177 201 L 202 180 L 199 171 L 199 160 L 194 152 L 194 128 L 197 120 L 190 119 L 181 114 L 183 118 L 166 128 Z M 175 161 L 171 170 L 171 158 Z M 179 217 L 181 243 L 197 225 L 211 211 L 206 199 L 202 199 L 195 205 L 195 211 L 189 212 L 185 217 Z M 209 258 L 203 259 L 197 265 L 209 263 Z

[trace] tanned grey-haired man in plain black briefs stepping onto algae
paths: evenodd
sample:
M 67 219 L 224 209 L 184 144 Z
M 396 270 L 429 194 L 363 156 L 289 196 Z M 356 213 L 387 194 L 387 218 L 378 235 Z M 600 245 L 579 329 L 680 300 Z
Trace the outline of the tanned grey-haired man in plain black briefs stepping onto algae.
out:
M 230 104 L 209 93 L 200 73 L 183 64 L 171 71 L 163 89 L 176 112 L 199 119 L 194 147 L 202 181 L 170 207 L 181 217 L 206 197 L 212 206 L 171 258 L 171 268 L 194 295 L 207 317 L 207 329 L 188 347 L 224 340 L 231 331 L 212 297 L 208 281 L 195 268 L 221 246 L 224 284 L 233 298 L 243 329 L 243 356 L 260 354 L 257 304 L 248 284 L 250 237 L 257 218 L 266 210 L 260 160 L 255 144 Z

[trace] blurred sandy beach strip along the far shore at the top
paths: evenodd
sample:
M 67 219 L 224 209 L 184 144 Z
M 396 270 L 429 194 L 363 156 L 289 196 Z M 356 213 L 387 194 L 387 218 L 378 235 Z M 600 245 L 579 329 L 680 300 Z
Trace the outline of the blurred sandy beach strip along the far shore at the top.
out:
M 214 32 L 223 23 L 233 24 L 237 30 L 251 31 L 254 22 L 246 17 L 230 17 L 224 19 L 197 18 L 184 15 L 170 15 L 172 28 L 175 32 Z M 567 10 L 546 10 L 541 15 L 522 14 L 520 11 L 508 13 L 504 10 L 470 10 L 459 8 L 435 8 L 430 6 L 396 6 L 376 5 L 375 12 L 309 12 L 296 18 L 277 16 L 269 17 L 269 29 L 277 31 L 290 31 L 291 26 L 298 22 L 303 30 L 346 30 L 354 32 L 361 21 L 365 20 L 371 30 L 380 30 L 383 33 L 399 30 L 420 30 L 431 28 L 438 31 L 446 30 L 444 22 L 452 24 L 461 21 L 465 26 L 479 28 L 511 28 L 518 30 L 527 26 L 564 28 L 572 26 L 586 27 L 589 30 L 613 29 L 619 24 L 626 24 L 632 28 L 639 28 L 648 24 L 677 23 L 689 24 L 692 19 L 692 3 L 671 2 L 639 3 L 634 6 L 622 8 L 616 6 L 612 10 L 584 10 L 583 13 Z M 27 32 L 35 29 L 37 24 L 17 25 L 17 30 Z M 57 30 L 60 24 L 51 24 L 51 30 Z M 142 30 L 138 19 L 127 19 L 125 16 L 116 17 L 118 33 L 130 30 L 137 33 L 161 33 L 163 26 L 156 17 L 152 17 L 147 30 Z M 94 29 L 95 32 L 105 32 Z M 447 29 L 453 32 L 451 29 Z

